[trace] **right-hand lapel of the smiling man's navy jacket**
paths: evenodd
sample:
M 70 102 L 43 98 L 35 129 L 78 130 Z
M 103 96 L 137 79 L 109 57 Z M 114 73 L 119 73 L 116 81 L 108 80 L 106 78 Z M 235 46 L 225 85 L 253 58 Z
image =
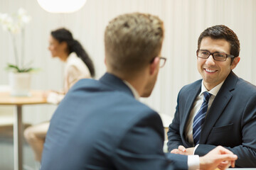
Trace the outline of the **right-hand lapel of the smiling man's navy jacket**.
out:
M 233 72 L 230 72 L 227 79 L 225 79 L 223 86 L 220 88 L 220 91 L 218 91 L 217 96 L 215 96 L 212 105 L 210 106 L 210 110 L 208 112 L 208 115 L 206 116 L 206 121 L 205 123 L 203 123 L 199 143 L 206 143 L 210 131 L 213 129 L 216 121 L 223 113 L 223 110 L 232 98 L 232 94 L 230 91 L 233 91 L 233 89 L 235 89 L 235 84 L 237 81 L 238 77 Z

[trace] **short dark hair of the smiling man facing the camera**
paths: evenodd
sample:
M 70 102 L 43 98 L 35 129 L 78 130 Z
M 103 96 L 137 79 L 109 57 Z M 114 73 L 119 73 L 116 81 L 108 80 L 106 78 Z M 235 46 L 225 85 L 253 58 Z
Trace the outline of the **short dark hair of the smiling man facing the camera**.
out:
M 225 39 L 230 43 L 230 55 L 235 57 L 239 56 L 240 52 L 240 42 L 238 36 L 234 33 L 233 30 L 227 26 L 218 25 L 207 28 L 201 33 L 198 38 L 198 50 L 200 49 L 201 41 L 203 38 L 210 37 L 212 39 Z M 231 63 L 234 58 L 231 59 Z

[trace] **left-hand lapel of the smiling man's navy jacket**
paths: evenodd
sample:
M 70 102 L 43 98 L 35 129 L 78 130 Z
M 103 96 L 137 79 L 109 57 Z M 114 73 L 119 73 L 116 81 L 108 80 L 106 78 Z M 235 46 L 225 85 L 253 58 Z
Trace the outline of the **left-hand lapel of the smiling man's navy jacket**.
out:
M 191 113 L 191 109 L 193 108 L 193 103 L 195 102 L 196 97 L 201 91 L 201 81 L 199 82 L 195 86 L 192 86 L 192 89 L 187 93 L 188 96 L 186 97 L 186 105 L 184 106 L 185 117 L 183 118 L 183 120 L 181 120 L 181 132 L 183 134 L 183 141 L 186 142 L 188 147 L 192 146 L 188 143 L 188 141 L 186 141 L 186 125 L 188 122 L 189 115 Z

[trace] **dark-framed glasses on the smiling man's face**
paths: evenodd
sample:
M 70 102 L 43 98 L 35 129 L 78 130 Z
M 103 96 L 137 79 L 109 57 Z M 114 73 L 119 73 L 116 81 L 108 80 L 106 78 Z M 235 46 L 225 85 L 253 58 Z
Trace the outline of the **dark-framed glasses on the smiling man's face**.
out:
M 216 61 L 224 62 L 228 57 L 234 58 L 233 55 L 227 55 L 224 52 L 213 52 L 210 53 L 208 50 L 196 50 L 196 55 L 199 58 L 208 59 L 210 55 L 213 55 L 213 59 Z

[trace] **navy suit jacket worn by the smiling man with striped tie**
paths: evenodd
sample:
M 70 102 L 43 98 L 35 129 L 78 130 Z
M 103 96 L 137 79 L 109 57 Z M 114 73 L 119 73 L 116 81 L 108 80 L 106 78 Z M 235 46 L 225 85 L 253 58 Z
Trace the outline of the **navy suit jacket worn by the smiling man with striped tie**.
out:
M 184 86 L 178 94 L 176 113 L 169 126 L 169 151 L 193 147 L 185 130 L 201 81 Z M 203 156 L 221 145 L 238 155 L 236 166 L 256 167 L 256 87 L 230 72 L 208 111 L 195 154 Z

